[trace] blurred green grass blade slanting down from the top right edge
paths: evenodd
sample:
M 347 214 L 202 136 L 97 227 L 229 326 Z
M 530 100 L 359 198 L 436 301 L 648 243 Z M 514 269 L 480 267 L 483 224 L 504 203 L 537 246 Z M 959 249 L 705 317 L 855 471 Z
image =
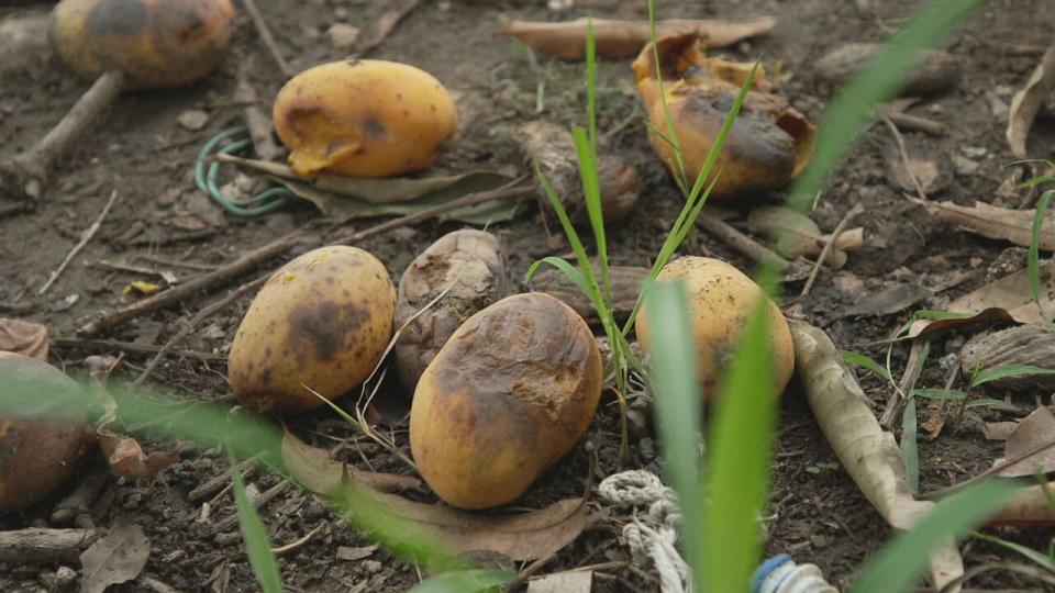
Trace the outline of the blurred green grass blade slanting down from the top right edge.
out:
M 877 103 L 892 98 L 907 70 L 915 63 L 915 52 L 937 44 L 985 0 L 935 0 L 917 12 L 909 24 L 895 35 L 886 49 L 844 87 L 830 103 L 819 126 L 820 134 L 810 165 L 799 176 L 788 205 L 801 212 L 828 176 L 853 153 L 853 144 L 871 118 Z

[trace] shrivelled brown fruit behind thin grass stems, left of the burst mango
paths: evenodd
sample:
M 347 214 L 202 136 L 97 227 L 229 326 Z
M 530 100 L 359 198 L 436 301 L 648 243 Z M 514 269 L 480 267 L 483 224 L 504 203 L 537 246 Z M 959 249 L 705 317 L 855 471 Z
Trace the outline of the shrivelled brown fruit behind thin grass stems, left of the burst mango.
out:
M 579 178 L 579 160 L 571 133 L 555 123 L 535 121 L 519 126 L 513 137 L 533 164 L 537 165 L 537 172 L 545 176 L 553 191 L 560 198 L 571 222 L 577 225 L 588 224 L 589 216 Z M 598 160 L 598 176 L 604 222 L 625 220 L 637 204 L 641 189 L 637 169 L 614 156 L 601 155 Z M 555 216 L 541 180 L 538 203 L 544 212 Z

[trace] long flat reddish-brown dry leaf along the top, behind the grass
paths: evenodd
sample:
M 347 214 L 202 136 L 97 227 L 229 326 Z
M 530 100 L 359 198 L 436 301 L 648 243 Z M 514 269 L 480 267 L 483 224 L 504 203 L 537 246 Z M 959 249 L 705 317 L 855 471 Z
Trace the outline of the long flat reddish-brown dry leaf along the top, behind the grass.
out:
M 587 19 L 563 23 L 513 21 L 501 34 L 552 56 L 564 59 L 586 57 Z M 624 58 L 637 54 L 651 38 L 648 21 L 592 19 L 593 41 L 599 57 Z M 659 37 L 699 32 L 708 47 L 726 47 L 747 37 L 762 35 L 777 24 L 771 16 L 745 21 L 670 19 L 656 22 Z

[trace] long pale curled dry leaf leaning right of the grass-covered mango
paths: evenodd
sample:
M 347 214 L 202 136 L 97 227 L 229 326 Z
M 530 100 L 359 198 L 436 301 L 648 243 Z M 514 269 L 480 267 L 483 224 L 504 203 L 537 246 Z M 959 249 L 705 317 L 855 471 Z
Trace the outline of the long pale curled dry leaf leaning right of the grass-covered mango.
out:
M 935 504 L 912 496 L 893 435 L 879 426 L 868 398 L 831 338 L 807 323 L 789 325 L 807 400 L 832 449 L 887 523 L 899 530 L 911 528 Z M 952 539 L 932 553 L 930 578 L 935 589 L 963 573 L 963 559 Z

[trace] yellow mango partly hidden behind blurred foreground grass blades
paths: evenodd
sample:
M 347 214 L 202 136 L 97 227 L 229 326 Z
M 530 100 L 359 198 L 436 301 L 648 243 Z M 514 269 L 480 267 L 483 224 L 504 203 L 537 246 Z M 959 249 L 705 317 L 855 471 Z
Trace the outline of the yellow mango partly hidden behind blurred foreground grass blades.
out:
M 719 379 L 734 355 L 741 331 L 759 298 L 769 301 L 769 346 L 777 391 L 784 391 L 795 371 L 791 329 L 780 309 L 764 295 L 758 284 L 729 264 L 708 257 L 682 257 L 670 261 L 656 279 L 685 282 L 696 339 L 697 373 L 706 401 L 715 401 Z M 634 329 L 642 348 L 649 351 L 654 336 L 648 328 L 646 311 L 637 316 Z M 655 336 L 655 339 L 663 339 L 663 336 Z

